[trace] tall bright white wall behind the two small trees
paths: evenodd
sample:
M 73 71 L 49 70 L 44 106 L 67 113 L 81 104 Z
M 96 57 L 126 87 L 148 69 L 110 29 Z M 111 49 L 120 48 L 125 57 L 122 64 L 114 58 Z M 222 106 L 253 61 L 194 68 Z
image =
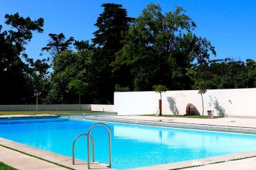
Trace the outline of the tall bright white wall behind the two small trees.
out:
M 185 115 L 191 103 L 202 115 L 202 100 L 198 90 L 168 91 L 163 96 L 163 114 Z M 160 94 L 156 92 L 115 92 L 114 109 L 118 115 L 156 114 Z M 203 95 L 207 110 L 214 115 L 256 116 L 256 89 L 209 89 Z

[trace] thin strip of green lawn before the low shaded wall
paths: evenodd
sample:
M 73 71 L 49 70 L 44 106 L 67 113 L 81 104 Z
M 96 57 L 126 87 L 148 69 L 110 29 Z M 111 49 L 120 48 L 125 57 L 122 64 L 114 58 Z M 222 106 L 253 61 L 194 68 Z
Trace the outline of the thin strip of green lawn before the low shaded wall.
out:
M 0 111 L 0 115 L 42 115 L 42 114 L 82 114 L 82 113 L 92 113 L 98 111 Z

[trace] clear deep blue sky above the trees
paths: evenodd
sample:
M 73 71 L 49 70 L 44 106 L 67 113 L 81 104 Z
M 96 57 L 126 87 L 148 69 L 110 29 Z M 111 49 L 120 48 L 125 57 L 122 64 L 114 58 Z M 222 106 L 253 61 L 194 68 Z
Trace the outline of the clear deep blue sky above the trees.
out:
M 197 24 L 194 33 L 206 37 L 216 47 L 216 58 L 256 61 L 256 1 L 255 0 L 0 0 L 0 24 L 4 15 L 19 12 L 31 19 L 45 19 L 45 32 L 35 33 L 27 45 L 30 58 L 39 56 L 47 44 L 49 33 L 64 33 L 77 40 L 93 38 L 94 24 L 103 3 L 122 4 L 128 16 L 136 18 L 150 2 L 158 3 L 163 11 L 184 7 Z M 6 27 L 4 27 L 6 28 Z

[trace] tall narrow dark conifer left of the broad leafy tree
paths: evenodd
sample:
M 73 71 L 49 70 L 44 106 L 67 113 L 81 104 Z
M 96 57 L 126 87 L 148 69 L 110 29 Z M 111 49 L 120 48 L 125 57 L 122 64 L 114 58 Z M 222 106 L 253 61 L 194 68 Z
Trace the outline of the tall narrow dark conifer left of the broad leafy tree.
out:
M 93 35 L 93 43 L 99 47 L 96 58 L 96 78 L 99 78 L 99 94 L 101 103 L 112 103 L 114 85 L 117 84 L 119 75 L 112 74 L 111 63 L 115 61 L 114 54 L 122 49 L 124 34 L 129 29 L 133 18 L 127 16 L 127 10 L 121 4 L 102 4 L 103 13 L 97 18 L 95 26 L 98 27 Z M 122 80 L 121 80 L 122 81 Z

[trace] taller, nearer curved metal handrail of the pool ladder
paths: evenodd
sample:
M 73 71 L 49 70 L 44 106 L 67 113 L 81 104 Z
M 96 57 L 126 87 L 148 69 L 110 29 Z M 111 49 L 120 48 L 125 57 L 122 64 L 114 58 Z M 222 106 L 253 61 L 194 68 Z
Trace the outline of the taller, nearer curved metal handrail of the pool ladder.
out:
M 105 124 L 105 123 L 96 123 L 93 124 L 93 126 L 91 126 L 91 128 L 88 131 L 88 142 L 87 142 L 87 164 L 88 164 L 88 169 L 90 169 L 90 134 L 91 134 L 91 130 L 98 125 L 102 125 L 105 126 L 106 129 L 108 129 L 108 158 L 109 158 L 109 168 L 111 168 L 111 130 L 109 129 L 109 127 Z

